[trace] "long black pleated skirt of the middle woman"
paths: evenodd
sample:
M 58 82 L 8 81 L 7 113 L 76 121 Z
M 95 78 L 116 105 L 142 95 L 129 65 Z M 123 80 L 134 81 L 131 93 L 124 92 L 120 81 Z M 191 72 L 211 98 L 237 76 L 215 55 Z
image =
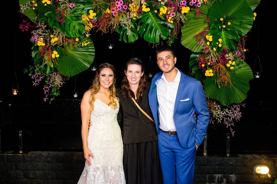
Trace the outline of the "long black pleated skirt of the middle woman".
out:
M 126 184 L 160 184 L 162 171 L 158 141 L 123 144 Z

